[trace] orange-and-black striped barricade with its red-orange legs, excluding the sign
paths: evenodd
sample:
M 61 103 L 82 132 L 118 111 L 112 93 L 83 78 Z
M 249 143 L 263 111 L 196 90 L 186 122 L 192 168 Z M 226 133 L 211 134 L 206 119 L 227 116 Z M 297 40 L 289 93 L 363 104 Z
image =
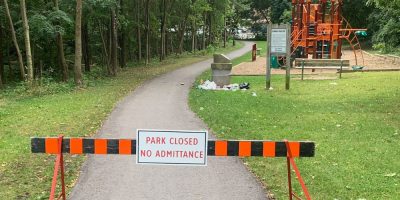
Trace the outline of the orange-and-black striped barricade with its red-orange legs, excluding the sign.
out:
M 298 157 L 314 157 L 315 144 L 308 141 L 266 141 L 266 140 L 209 140 L 208 156 L 239 156 L 239 157 L 286 157 L 288 170 L 289 199 L 300 199 L 292 190 L 291 169 L 295 171 L 306 199 L 311 199 L 307 187 L 294 161 Z M 54 199 L 58 171 L 61 171 L 61 194 L 65 199 L 63 154 L 119 154 L 135 155 L 136 140 L 105 139 L 105 138 L 64 138 L 33 137 L 31 138 L 32 153 L 56 154 L 54 175 L 50 199 Z

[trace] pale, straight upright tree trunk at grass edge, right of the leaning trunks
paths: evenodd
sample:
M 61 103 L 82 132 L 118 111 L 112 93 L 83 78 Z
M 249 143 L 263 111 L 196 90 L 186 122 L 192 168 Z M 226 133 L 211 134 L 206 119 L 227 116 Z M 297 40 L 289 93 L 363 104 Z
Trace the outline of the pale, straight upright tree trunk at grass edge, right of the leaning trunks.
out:
M 82 0 L 76 0 L 74 81 L 82 86 Z

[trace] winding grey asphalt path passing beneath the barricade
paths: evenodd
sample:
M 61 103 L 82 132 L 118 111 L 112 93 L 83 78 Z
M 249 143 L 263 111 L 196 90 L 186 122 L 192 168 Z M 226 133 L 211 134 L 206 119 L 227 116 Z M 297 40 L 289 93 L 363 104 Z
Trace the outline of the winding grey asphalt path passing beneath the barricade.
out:
M 252 43 L 228 54 L 235 58 Z M 211 59 L 145 82 L 122 100 L 97 137 L 135 138 L 136 129 L 205 130 L 188 93 Z M 184 83 L 181 85 L 180 83 Z M 214 136 L 210 135 L 210 138 Z M 207 167 L 136 165 L 135 156 L 89 156 L 70 199 L 266 199 L 260 183 L 235 157 L 209 157 Z

